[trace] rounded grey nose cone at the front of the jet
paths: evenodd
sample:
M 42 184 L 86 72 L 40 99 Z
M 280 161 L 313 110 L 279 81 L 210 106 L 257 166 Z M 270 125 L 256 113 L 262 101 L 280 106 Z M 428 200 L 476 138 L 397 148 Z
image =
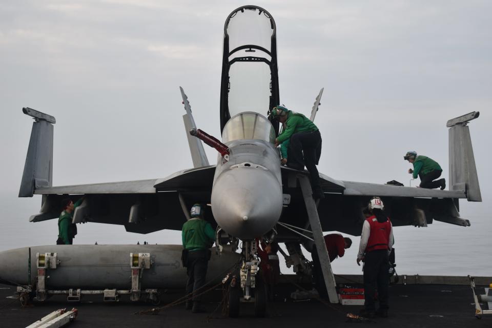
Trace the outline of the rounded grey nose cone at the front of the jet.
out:
M 230 235 L 240 239 L 260 237 L 280 218 L 280 183 L 267 170 L 236 168 L 222 172 L 212 190 L 212 212 Z

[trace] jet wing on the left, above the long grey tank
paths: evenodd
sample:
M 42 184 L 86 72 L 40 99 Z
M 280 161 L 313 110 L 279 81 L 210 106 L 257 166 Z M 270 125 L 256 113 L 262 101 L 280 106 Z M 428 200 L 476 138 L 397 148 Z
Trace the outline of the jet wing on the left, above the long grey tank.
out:
M 193 203 L 210 200 L 214 174 L 215 166 L 208 166 L 162 179 L 37 188 L 34 194 L 43 195 L 43 205 L 30 221 L 58 218 L 62 200 L 70 195 L 73 200 L 84 197 L 75 209 L 74 223 L 122 224 L 137 233 L 180 230 Z

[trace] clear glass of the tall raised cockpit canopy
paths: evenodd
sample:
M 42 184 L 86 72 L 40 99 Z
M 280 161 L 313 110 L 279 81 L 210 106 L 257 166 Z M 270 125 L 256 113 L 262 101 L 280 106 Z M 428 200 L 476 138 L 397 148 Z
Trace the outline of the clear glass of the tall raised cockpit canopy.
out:
M 271 17 L 258 8 L 237 11 L 226 27 L 229 36 L 230 117 L 252 111 L 266 114 L 270 107 Z

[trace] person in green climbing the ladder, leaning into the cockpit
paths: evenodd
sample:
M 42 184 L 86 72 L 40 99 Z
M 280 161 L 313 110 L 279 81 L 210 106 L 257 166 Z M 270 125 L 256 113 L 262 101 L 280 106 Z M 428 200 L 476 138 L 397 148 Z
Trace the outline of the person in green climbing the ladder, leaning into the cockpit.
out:
M 285 124 L 285 129 L 275 139 L 275 147 L 282 145 L 280 150 L 283 155 L 287 148 L 285 142 L 289 142 L 286 165 L 296 170 L 304 170 L 305 166 L 311 176 L 313 197 L 324 198 L 316 168 L 321 156 L 321 134 L 318 128 L 309 118 L 283 106 L 274 107 L 270 116 Z

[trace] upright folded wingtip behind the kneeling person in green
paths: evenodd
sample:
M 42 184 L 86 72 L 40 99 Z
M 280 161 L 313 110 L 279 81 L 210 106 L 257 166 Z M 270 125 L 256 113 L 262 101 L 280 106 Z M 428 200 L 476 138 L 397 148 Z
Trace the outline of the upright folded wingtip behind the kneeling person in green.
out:
M 447 121 L 449 128 L 449 190 L 465 190 L 468 201 L 482 201 L 468 122 L 480 112 Z

